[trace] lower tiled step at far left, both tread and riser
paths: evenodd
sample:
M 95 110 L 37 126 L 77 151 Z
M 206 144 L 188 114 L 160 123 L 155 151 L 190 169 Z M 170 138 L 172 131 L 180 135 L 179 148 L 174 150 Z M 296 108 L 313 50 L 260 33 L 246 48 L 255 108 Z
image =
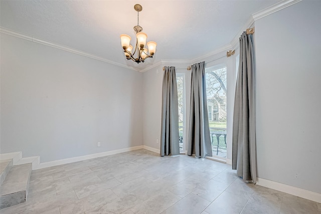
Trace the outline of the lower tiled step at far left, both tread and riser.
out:
M 0 186 L 0 209 L 23 203 L 27 199 L 32 164 L 15 165 Z

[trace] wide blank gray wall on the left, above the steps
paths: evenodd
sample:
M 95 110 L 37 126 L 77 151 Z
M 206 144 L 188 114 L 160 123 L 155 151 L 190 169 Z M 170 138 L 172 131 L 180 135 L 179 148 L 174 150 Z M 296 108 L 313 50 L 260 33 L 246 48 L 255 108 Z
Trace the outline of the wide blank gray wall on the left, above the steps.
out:
M 142 73 L 6 34 L 0 69 L 1 153 L 46 162 L 142 145 Z

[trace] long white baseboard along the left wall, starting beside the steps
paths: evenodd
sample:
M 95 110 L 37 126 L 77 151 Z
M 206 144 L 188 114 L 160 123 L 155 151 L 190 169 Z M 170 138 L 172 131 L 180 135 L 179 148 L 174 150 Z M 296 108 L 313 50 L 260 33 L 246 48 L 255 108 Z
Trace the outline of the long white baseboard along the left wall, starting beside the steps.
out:
M 66 163 L 73 163 L 73 162 L 88 160 L 88 159 L 97 158 L 97 157 L 104 157 L 104 156 L 108 156 L 108 155 L 112 155 L 112 154 L 118 154 L 118 153 L 122 153 L 122 152 L 142 149 L 142 148 L 143 148 L 142 145 L 141 146 L 133 146 L 133 147 L 117 149 L 117 150 L 112 150 L 112 151 L 88 154 L 88 155 L 84 155 L 84 156 L 48 161 L 48 162 L 43 162 L 43 163 L 36 165 L 35 169 L 42 169 L 42 168 L 47 168 L 47 167 L 51 167 L 51 166 L 58 166 L 58 165 L 66 164 Z M 34 168 L 33 168 L 33 170 L 34 170 Z

